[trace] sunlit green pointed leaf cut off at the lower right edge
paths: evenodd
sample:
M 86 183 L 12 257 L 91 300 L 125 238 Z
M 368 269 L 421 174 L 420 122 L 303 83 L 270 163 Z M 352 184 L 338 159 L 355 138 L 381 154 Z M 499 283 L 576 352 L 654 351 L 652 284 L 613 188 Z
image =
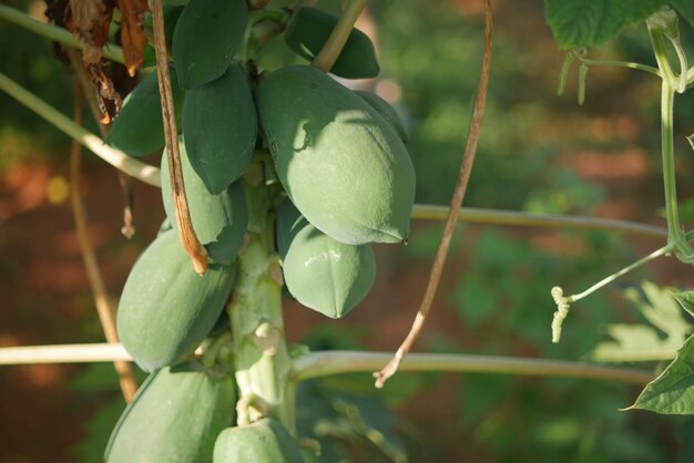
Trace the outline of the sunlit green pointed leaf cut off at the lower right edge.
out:
M 677 357 L 651 381 L 629 409 L 651 410 L 663 414 L 694 413 L 694 337 L 690 337 Z

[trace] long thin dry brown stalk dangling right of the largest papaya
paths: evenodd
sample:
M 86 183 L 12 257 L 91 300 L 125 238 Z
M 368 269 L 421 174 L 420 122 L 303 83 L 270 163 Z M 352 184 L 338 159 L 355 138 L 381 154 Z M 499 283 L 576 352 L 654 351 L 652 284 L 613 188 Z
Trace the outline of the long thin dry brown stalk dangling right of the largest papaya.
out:
M 446 220 L 446 227 L 443 228 L 443 236 L 441 243 L 436 253 L 436 258 L 431 267 L 431 274 L 429 275 L 429 281 L 425 296 L 415 317 L 415 322 L 410 328 L 410 332 L 405 338 L 405 341 L 398 348 L 395 357 L 388 364 L 380 371 L 375 372 L 376 387 L 382 388 L 385 382 L 398 371 L 398 366 L 407 356 L 407 352 L 411 349 L 412 344 L 419 337 L 425 321 L 431 306 L 433 303 L 433 297 L 438 289 L 441 275 L 443 272 L 443 266 L 446 265 L 446 258 L 448 256 L 448 248 L 456 230 L 458 223 L 458 214 L 460 213 L 460 206 L 465 198 L 466 189 L 468 187 L 468 181 L 470 178 L 470 172 L 472 171 L 472 164 L 474 163 L 474 154 L 477 152 L 477 142 L 479 141 L 480 130 L 482 127 L 482 117 L 484 115 L 484 103 L 487 100 L 487 89 L 489 85 L 489 71 L 491 68 L 491 51 L 492 51 L 492 23 L 491 23 L 491 6 L 490 0 L 484 0 L 484 54 L 482 58 L 482 70 L 480 72 L 480 80 L 477 89 L 477 95 L 474 97 L 474 104 L 472 106 L 472 119 L 470 121 L 470 127 L 468 130 L 468 141 L 462 154 L 462 163 L 460 166 L 460 173 L 458 181 L 456 182 L 456 189 L 453 191 L 453 197 L 450 203 L 450 210 L 448 219 Z

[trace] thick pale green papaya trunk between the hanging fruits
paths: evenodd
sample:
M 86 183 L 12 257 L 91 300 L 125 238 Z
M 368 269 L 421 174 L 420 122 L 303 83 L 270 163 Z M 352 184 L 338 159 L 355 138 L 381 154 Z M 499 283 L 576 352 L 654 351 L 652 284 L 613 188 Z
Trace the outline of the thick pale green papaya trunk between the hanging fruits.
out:
M 271 198 L 262 163 L 251 164 L 244 188 L 248 239 L 237 257 L 234 297 L 227 306 L 241 397 L 237 420 L 243 425 L 272 416 L 293 432 L 294 400 L 288 384 L 293 361 L 284 336 L 282 270 L 273 245 Z

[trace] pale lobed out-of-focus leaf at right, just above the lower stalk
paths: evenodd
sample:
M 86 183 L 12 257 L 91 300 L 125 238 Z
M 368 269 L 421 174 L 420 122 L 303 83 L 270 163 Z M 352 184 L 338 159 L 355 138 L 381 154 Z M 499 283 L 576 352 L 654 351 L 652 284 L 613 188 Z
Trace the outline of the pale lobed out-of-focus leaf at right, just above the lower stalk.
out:
M 692 325 L 684 319 L 672 292 L 653 282 L 644 281 L 641 291 L 629 288 L 624 296 L 633 302 L 650 325 L 608 326 L 606 332 L 613 340 L 600 342 L 593 350 L 593 359 L 602 362 L 624 362 L 673 358 L 692 331 Z

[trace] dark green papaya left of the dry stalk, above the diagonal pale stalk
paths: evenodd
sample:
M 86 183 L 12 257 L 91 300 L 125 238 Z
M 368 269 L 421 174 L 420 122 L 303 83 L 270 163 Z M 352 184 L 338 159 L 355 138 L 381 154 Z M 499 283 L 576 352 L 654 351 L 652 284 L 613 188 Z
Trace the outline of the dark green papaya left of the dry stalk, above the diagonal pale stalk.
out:
M 173 69 L 171 80 L 174 107 L 178 116 L 184 92 L 176 84 Z M 156 72 L 146 75 L 123 100 L 121 115 L 111 124 L 106 143 L 131 156 L 146 156 L 164 147 L 164 124 Z

